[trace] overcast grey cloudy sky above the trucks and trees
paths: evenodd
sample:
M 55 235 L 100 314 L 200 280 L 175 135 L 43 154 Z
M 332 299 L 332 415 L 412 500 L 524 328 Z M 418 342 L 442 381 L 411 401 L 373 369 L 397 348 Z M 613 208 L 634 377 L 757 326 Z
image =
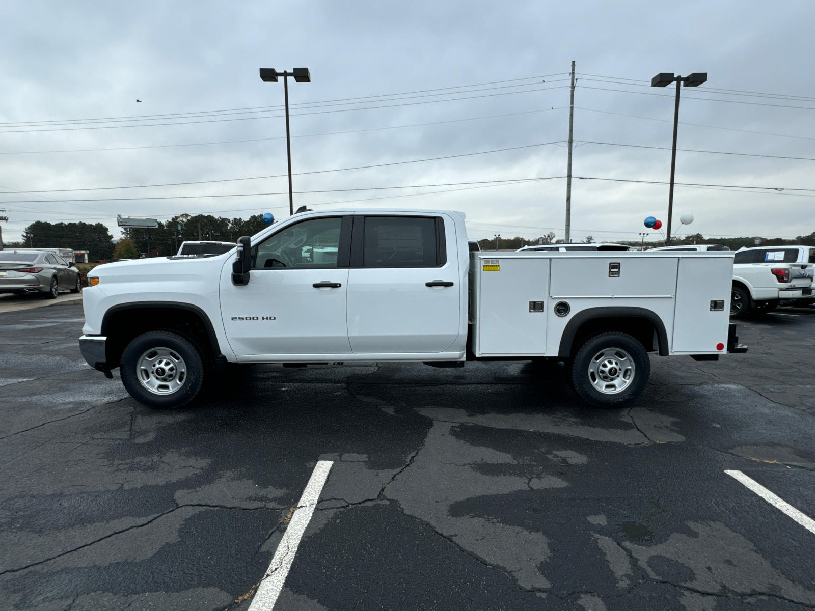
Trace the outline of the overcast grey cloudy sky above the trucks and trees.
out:
M 288 216 L 283 83 L 258 68 L 302 66 L 295 207 L 456 209 L 477 238 L 562 238 L 572 59 L 573 173 L 588 178 L 574 180 L 573 240 L 667 220 L 666 184 L 598 180 L 667 182 L 674 90 L 649 86 L 659 72 L 708 76 L 681 92 L 678 147 L 706 152 L 678 152 L 676 182 L 728 187 L 676 187 L 675 228 L 695 217 L 680 235 L 815 231 L 812 2 L 0 7 L 5 241 L 36 220 L 118 237 L 117 213 Z M 198 183 L 149 187 L 178 182 Z

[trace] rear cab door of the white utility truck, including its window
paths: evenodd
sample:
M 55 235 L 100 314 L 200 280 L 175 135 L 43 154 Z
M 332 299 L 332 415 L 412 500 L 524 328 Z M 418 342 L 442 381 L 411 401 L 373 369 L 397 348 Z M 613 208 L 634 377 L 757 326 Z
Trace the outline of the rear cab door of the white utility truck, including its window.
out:
M 353 352 L 416 354 L 449 349 L 460 333 L 463 305 L 458 270 L 451 220 L 356 215 L 347 314 Z

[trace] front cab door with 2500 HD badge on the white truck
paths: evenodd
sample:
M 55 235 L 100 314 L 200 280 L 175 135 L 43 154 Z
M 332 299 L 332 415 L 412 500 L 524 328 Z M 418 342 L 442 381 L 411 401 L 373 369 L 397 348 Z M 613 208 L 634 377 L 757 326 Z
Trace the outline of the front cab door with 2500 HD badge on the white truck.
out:
M 249 284 L 221 278 L 221 313 L 238 357 L 348 354 L 348 267 L 351 217 L 307 218 L 253 244 Z M 344 238 L 344 241 L 343 241 Z M 347 265 L 347 264 L 346 264 Z

